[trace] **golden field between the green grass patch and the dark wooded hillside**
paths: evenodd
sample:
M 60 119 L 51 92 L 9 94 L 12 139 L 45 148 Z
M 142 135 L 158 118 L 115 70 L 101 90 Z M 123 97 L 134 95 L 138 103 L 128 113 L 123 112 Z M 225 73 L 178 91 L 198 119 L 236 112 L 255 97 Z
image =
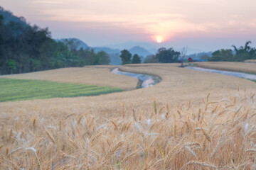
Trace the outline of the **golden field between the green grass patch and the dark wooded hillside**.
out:
M 43 72 L 32 72 L 26 74 L 12 74 L 0 76 L 0 78 L 11 79 L 36 79 L 73 84 L 90 84 L 95 86 L 111 86 L 125 91 L 136 89 L 137 79 L 112 74 L 110 69 L 117 66 L 89 66 L 82 68 L 52 69 Z

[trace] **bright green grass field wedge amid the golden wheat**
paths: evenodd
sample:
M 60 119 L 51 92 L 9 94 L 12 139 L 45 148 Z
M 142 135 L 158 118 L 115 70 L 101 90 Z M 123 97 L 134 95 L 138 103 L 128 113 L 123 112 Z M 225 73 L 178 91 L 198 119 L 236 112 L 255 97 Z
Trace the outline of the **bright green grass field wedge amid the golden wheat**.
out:
M 0 79 L 0 102 L 95 96 L 117 91 L 122 91 L 122 89 L 43 80 Z

